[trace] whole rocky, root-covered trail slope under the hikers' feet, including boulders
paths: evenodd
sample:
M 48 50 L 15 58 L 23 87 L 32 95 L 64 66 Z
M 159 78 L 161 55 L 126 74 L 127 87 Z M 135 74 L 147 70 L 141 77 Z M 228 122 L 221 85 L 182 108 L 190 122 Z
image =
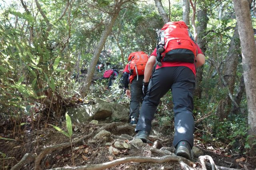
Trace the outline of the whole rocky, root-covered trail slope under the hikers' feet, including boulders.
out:
M 15 141 L 0 140 L 0 150 L 6 154 L 5 158 L 0 160 L 0 166 L 11 170 L 254 170 L 256 168 L 255 158 L 243 157 L 238 153 L 227 154 L 217 147 L 204 146 L 197 142 L 202 140 L 200 135 L 195 135 L 194 158 L 191 161 L 175 156 L 175 149 L 172 146 L 173 134 L 166 134 L 156 121 L 152 123 L 152 132 L 147 143 L 143 143 L 140 139 L 133 140 L 135 127 L 127 123 L 127 107 L 102 100 L 97 100 L 95 103 L 68 110 L 68 113 L 73 115 L 72 148 L 68 137 L 50 125 L 43 124 L 44 121 L 41 125 L 45 127 L 38 126 L 38 129 L 32 131 L 30 127 L 26 127 L 24 131 L 14 133 L 3 127 L 1 137 L 13 138 Z M 84 119 L 81 117 L 82 113 Z M 88 113 L 93 114 L 88 115 Z M 65 122 L 56 125 L 67 131 Z

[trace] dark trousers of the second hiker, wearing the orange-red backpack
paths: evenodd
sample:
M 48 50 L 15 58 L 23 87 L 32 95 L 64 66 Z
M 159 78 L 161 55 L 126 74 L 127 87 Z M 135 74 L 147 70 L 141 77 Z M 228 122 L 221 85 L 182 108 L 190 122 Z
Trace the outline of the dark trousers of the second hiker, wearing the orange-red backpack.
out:
M 130 115 L 129 118 L 134 117 L 136 120 L 139 119 L 140 114 L 140 101 L 143 98 L 142 92 L 142 80 L 144 76 L 134 77 L 131 84 L 131 100 L 130 100 Z

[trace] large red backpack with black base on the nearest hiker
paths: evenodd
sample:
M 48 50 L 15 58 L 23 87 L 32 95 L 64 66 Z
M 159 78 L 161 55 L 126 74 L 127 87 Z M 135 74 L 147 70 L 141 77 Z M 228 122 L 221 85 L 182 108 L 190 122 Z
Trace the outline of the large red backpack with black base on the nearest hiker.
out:
M 184 21 L 168 22 L 161 30 L 161 36 L 164 36 L 165 43 L 162 61 L 195 62 L 196 43 Z

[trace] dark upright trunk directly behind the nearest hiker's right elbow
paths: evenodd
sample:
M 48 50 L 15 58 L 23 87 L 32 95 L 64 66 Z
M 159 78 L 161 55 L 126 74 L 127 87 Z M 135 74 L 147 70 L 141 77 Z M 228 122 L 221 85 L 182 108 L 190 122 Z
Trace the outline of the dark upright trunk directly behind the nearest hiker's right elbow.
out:
M 198 4 L 202 4 L 204 0 L 199 0 Z M 204 5 L 205 6 L 205 5 Z M 198 32 L 198 46 L 202 50 L 202 52 L 205 54 L 206 51 L 206 41 L 205 41 L 205 30 L 207 27 L 207 8 L 200 9 L 197 13 L 197 20 L 198 20 L 198 26 L 196 27 L 197 32 Z M 196 72 L 196 89 L 194 90 L 194 96 L 195 98 L 200 99 L 202 97 L 202 80 L 203 80 L 203 70 L 204 70 L 204 65 L 201 67 L 197 68 Z

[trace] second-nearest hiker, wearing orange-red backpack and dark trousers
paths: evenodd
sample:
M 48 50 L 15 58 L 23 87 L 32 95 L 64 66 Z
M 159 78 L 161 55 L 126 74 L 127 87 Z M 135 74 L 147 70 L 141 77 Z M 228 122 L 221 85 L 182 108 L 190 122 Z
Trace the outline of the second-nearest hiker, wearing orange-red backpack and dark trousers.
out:
M 148 55 L 143 51 L 130 53 L 128 56 L 128 64 L 123 71 L 123 82 L 126 96 L 130 100 L 130 124 L 136 125 L 140 113 L 140 101 L 144 97 L 142 93 L 142 80 L 144 78 L 144 69 L 148 61 Z M 129 90 L 129 84 L 131 90 Z

